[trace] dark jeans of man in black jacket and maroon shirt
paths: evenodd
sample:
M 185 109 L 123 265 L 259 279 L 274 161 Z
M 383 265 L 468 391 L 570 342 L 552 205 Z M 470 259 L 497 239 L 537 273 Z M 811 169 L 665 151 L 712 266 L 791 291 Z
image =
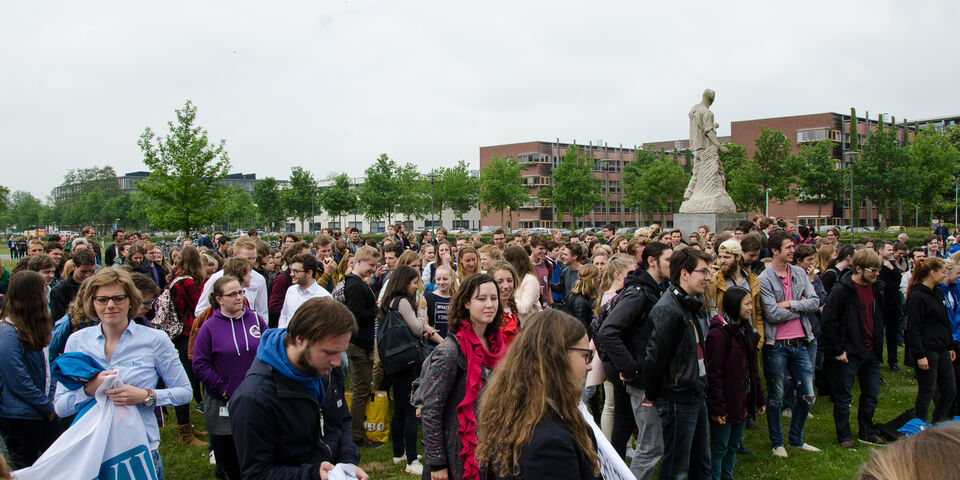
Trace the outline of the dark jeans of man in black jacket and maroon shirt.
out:
M 868 354 L 870 355 L 870 354 Z M 860 379 L 860 400 L 857 406 L 857 425 L 860 428 L 859 437 L 871 440 L 877 436 L 873 426 L 873 412 L 877 409 L 877 397 L 880 394 L 880 360 L 870 355 L 868 360 L 850 358 L 847 363 L 840 363 L 837 369 L 837 386 L 833 391 L 833 423 L 837 428 L 837 441 L 840 443 L 853 440 L 850 432 L 850 402 L 853 396 L 853 381 Z

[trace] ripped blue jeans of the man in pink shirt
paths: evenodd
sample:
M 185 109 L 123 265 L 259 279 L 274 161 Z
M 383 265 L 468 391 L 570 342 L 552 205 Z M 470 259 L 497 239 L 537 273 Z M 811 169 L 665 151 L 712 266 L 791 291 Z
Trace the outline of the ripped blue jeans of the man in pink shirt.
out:
M 806 342 L 802 346 L 782 343 L 763 347 L 763 372 L 767 377 L 767 430 L 773 448 L 783 446 L 783 430 L 780 426 L 780 403 L 783 401 L 783 384 L 789 373 L 799 382 L 800 399 L 793 407 L 790 419 L 790 445 L 803 445 L 803 426 L 813 405 L 813 365 Z

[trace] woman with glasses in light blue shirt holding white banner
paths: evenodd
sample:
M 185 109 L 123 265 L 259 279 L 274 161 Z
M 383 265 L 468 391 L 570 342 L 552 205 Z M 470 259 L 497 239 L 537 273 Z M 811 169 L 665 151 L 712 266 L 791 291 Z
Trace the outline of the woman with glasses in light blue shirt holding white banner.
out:
M 87 354 L 107 370 L 76 390 L 57 384 L 57 415 L 77 413 L 94 397 L 104 378 L 119 375 L 124 385 L 107 390 L 107 398 L 116 405 L 137 407 L 147 430 L 157 478 L 163 479 L 160 429 L 153 408 L 188 403 L 193 394 L 190 380 L 167 335 L 132 321 L 140 311 L 142 297 L 129 273 L 104 268 L 87 279 L 85 286 L 80 300 L 83 311 L 87 317 L 99 319 L 100 324 L 71 335 L 65 351 Z M 167 388 L 156 388 L 160 379 Z

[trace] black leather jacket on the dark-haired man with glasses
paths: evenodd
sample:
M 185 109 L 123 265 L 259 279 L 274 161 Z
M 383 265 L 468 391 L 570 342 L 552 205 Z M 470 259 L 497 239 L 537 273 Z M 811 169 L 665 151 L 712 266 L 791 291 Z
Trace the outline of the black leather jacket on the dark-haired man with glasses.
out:
M 697 361 L 697 346 L 706 351 L 697 318 L 701 312 L 701 301 L 672 284 L 650 310 L 650 339 L 643 362 L 647 399 L 696 403 L 703 398 Z

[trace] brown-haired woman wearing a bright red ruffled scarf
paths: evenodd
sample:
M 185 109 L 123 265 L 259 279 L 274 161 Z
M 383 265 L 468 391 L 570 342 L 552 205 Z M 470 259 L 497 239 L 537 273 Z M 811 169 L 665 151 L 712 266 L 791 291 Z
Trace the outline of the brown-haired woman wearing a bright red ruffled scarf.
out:
M 506 350 L 499 294 L 493 277 L 478 273 L 467 277 L 453 297 L 451 335 L 433 351 L 430 368 L 435 373 L 424 384 L 425 480 L 479 478 L 476 403 L 488 372 Z

